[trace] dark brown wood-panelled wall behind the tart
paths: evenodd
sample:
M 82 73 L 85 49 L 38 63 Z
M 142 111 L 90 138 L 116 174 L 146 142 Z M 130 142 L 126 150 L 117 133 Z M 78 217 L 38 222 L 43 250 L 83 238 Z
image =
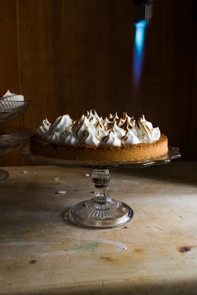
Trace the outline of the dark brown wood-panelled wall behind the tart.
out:
M 127 110 L 159 125 L 184 159 L 197 158 L 195 3 L 155 1 L 135 91 L 131 0 L 0 0 L 0 91 L 31 102 L 3 126 L 34 131 L 43 118 L 65 112 L 77 118 L 91 108 L 100 116 Z M 20 154 L 0 157 L 0 165 L 24 164 Z

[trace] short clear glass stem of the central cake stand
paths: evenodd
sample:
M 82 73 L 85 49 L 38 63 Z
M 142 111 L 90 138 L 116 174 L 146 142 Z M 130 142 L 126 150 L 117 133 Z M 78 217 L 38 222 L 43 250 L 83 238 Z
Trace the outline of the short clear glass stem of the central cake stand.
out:
M 112 202 L 109 197 L 109 170 L 97 170 L 93 171 L 92 181 L 95 185 L 94 199 L 98 203 Z

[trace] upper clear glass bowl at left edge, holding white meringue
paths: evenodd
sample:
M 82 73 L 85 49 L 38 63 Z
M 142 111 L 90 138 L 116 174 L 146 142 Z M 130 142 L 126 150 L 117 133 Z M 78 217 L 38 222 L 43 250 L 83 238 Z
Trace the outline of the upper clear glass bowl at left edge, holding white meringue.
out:
M 0 123 L 13 120 L 23 114 L 29 107 L 29 101 L 1 101 Z

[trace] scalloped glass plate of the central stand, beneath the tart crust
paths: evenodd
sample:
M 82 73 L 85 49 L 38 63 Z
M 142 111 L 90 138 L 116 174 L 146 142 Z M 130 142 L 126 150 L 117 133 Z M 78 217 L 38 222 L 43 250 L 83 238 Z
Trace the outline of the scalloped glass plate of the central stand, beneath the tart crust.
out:
M 143 168 L 152 165 L 167 164 L 173 159 L 178 159 L 181 156 L 179 148 L 168 147 L 168 153 L 161 157 L 154 159 L 146 159 L 141 161 L 131 162 L 82 162 L 82 161 L 70 161 L 60 158 L 43 157 L 33 154 L 29 149 L 26 149 L 22 156 L 27 159 L 31 159 L 34 163 L 56 165 L 59 167 L 86 167 L 92 169 L 115 169 L 115 168 Z

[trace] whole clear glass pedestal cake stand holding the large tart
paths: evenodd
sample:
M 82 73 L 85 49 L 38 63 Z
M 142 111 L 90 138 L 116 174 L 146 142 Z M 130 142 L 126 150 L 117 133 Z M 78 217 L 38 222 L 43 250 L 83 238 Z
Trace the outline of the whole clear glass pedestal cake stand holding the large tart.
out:
M 88 228 L 113 228 L 122 226 L 133 217 L 132 209 L 125 203 L 113 200 L 109 196 L 109 169 L 114 168 L 143 168 L 152 165 L 167 164 L 181 156 L 178 148 L 169 147 L 164 156 L 131 162 L 82 162 L 68 161 L 58 158 L 42 157 L 33 154 L 30 150 L 22 154 L 34 163 L 56 165 L 59 167 L 86 167 L 92 168 L 92 181 L 95 185 L 95 194 L 91 200 L 80 202 L 69 210 L 67 220 L 79 226 Z

